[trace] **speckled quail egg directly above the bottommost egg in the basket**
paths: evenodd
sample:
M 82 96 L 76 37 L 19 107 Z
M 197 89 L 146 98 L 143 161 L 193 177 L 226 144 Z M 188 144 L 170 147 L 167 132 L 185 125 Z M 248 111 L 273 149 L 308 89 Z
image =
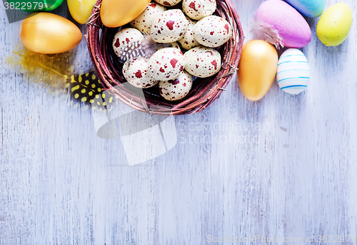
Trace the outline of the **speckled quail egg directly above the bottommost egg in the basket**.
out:
M 171 80 L 181 73 L 184 66 L 181 51 L 177 48 L 162 48 L 149 59 L 148 72 L 156 80 Z

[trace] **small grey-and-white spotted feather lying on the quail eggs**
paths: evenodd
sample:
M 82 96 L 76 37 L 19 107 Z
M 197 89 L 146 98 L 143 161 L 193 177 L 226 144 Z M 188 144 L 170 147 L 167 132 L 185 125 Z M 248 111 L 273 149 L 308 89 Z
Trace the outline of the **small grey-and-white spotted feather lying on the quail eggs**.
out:
M 144 36 L 144 41 L 127 43 L 124 51 L 119 54 L 119 61 L 125 63 L 126 61 L 132 60 L 138 56 L 150 58 L 158 48 L 171 47 L 169 43 L 155 43 L 151 35 L 147 34 Z

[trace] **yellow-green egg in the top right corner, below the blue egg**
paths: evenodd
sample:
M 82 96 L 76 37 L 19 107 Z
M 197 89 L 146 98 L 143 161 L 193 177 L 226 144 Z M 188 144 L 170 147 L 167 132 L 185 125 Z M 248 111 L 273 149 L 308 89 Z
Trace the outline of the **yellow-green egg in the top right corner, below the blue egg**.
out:
M 326 46 L 338 46 L 351 31 L 353 16 L 347 4 L 335 4 L 328 8 L 318 21 L 316 33 Z

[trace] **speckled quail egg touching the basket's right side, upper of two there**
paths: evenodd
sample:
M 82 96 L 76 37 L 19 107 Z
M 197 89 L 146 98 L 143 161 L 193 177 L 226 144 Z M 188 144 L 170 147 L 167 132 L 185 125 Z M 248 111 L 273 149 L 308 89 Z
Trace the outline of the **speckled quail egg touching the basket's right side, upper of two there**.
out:
M 193 36 L 203 46 L 215 48 L 231 38 L 231 24 L 219 16 L 207 16 L 196 23 Z

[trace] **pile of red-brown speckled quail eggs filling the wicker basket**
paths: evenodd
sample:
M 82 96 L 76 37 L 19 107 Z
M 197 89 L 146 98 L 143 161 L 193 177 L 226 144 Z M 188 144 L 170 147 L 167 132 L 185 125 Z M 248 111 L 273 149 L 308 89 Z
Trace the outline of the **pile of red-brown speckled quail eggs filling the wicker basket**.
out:
M 113 48 L 119 56 L 128 46 L 143 41 L 143 33 L 156 43 L 170 43 L 171 47 L 158 49 L 151 58 L 126 61 L 123 74 L 137 88 L 159 85 L 166 100 L 181 100 L 195 77 L 207 78 L 220 71 L 221 55 L 214 48 L 231 38 L 232 28 L 225 19 L 212 15 L 216 0 L 155 1 L 130 22 L 131 27 L 116 33 Z M 174 8 L 166 10 L 166 6 Z

